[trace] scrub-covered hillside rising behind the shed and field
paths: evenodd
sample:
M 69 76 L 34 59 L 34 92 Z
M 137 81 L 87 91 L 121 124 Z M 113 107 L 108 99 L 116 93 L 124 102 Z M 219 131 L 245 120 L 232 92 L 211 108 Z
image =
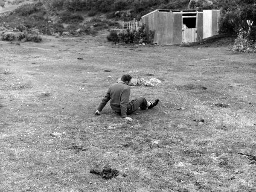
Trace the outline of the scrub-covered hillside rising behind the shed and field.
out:
M 77 30 L 96 34 L 101 29 L 118 27 L 119 21 L 138 20 L 155 9 L 221 9 L 221 32 L 237 33 L 246 20 L 256 23 L 256 0 L 1 0 L 2 7 L 21 5 L 0 17 L 9 27 L 38 28 L 44 34 Z M 26 3 L 28 2 L 28 3 Z M 26 3 L 26 4 L 24 4 Z M 3 10 L 3 8 L 2 8 Z M 10 9 L 7 9 L 10 10 Z M 90 20 L 97 18 L 96 20 Z M 107 20 L 108 21 L 107 21 Z M 7 26 L 8 27 L 8 26 Z M 65 29 L 64 29 L 65 28 Z M 254 30 L 255 31 L 255 30 Z

